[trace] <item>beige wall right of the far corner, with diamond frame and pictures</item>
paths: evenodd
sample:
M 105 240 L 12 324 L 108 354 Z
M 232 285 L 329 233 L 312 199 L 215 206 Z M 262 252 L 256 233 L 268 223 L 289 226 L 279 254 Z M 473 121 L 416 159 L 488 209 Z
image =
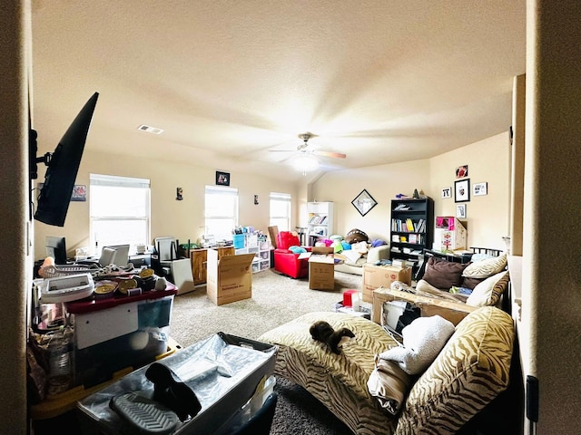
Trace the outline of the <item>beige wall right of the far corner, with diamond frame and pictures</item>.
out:
M 508 122 L 508 121 L 507 121 Z M 505 248 L 508 235 L 510 145 L 508 132 L 480 140 L 429 160 L 414 160 L 367 169 L 334 171 L 314 184 L 310 200 L 333 201 L 335 232 L 359 228 L 371 238 L 389 240 L 390 200 L 418 189 L 434 199 L 434 216 L 456 216 L 454 198 L 441 198 L 441 189 L 454 188 L 456 168 L 468 165 L 470 182 L 487 182 L 487 196 L 470 195 L 467 204 L 468 247 Z M 362 189 L 378 201 L 364 217 L 351 200 Z

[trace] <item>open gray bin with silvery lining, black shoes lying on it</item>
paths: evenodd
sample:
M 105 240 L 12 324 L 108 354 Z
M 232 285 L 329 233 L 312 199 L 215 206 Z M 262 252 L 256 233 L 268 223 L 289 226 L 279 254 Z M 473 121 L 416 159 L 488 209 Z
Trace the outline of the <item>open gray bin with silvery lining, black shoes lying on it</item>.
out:
M 162 363 L 192 388 L 202 404 L 201 411 L 190 420 L 179 421 L 168 433 L 229 433 L 225 426 L 231 424 L 232 417 L 245 411 L 244 405 L 255 393 L 260 394 L 264 387 L 268 391 L 273 386 L 267 380 L 274 371 L 277 350 L 275 345 L 216 333 L 164 358 Z M 132 425 L 113 411 L 109 403 L 113 397 L 131 391 L 153 399 L 153 382 L 145 377 L 146 371 L 147 367 L 143 367 L 77 402 L 83 433 L 135 433 Z

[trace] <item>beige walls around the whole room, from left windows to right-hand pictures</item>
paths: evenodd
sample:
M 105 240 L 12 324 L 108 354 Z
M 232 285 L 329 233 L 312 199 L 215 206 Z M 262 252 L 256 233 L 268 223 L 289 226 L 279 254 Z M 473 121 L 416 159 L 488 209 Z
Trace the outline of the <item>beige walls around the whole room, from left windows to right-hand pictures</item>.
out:
M 215 169 L 194 164 L 153 161 L 142 157 L 111 156 L 90 150 L 90 137 L 77 184 L 89 184 L 89 174 L 103 173 L 152 180 L 152 237 L 172 236 L 185 242 L 203 233 L 204 186 L 213 185 Z M 509 145 L 507 133 L 481 140 L 430 160 L 413 160 L 366 169 L 329 172 L 298 184 L 265 179 L 260 174 L 231 173 L 231 187 L 239 189 L 240 223 L 267 232 L 271 191 L 291 193 L 295 226 L 305 226 L 307 200 L 332 201 L 334 232 L 345 235 L 359 228 L 371 238 L 389 240 L 390 200 L 398 193 L 411 196 L 414 189 L 434 199 L 435 216 L 456 216 L 454 199 L 441 199 L 444 187 L 453 187 L 455 169 L 468 164 L 471 181 L 487 181 L 488 195 L 468 202 L 468 246 L 504 248 L 507 236 L 509 191 Z M 227 170 L 227 169 L 225 169 Z M 39 173 L 44 174 L 44 169 Z M 494 176 L 494 178 L 492 178 Z M 40 180 L 40 179 L 39 179 Z M 183 189 L 183 200 L 175 200 L 175 189 Z M 362 189 L 378 201 L 364 217 L 351 201 Z M 89 189 L 88 195 L 91 195 Z M 254 195 L 259 205 L 254 205 Z M 76 247 L 89 246 L 89 202 L 72 202 L 64 227 L 35 222 L 35 258 L 44 257 L 44 237 L 66 237 L 69 256 Z

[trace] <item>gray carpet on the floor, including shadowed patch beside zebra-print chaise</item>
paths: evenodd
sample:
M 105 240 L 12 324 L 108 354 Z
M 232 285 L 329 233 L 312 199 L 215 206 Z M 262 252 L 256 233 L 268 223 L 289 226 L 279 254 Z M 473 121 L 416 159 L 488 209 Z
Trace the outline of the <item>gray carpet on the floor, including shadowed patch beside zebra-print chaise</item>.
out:
M 335 272 L 335 289 L 310 290 L 306 279 L 291 279 L 274 269 L 252 275 L 252 297 L 216 306 L 204 286 L 174 298 L 172 338 L 189 346 L 224 332 L 256 340 L 262 333 L 301 314 L 330 311 L 346 289 L 360 289 L 361 276 Z M 278 378 L 279 395 L 271 435 L 349 435 L 352 432 L 299 385 Z

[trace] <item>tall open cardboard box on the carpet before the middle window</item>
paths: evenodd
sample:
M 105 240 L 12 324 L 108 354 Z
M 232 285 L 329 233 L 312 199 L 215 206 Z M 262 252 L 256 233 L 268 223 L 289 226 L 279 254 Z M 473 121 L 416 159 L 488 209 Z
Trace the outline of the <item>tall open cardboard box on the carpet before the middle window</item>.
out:
M 252 297 L 252 260 L 254 254 L 222 256 L 208 249 L 206 291 L 217 305 L 230 304 Z

